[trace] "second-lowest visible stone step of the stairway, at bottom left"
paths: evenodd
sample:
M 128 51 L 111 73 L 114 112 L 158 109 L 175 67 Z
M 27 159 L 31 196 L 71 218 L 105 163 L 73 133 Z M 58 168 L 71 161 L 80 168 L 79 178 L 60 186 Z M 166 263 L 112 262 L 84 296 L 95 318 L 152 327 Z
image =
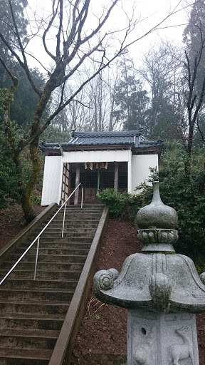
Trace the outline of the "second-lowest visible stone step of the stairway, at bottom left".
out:
M 59 331 L 41 329 L 4 329 L 0 330 L 0 348 L 53 349 Z

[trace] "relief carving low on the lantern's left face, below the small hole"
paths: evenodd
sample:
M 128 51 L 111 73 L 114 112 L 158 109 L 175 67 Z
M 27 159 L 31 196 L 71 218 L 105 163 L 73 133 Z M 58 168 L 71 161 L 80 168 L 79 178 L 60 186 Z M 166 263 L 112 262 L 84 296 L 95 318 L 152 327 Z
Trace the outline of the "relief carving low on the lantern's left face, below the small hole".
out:
M 135 365 L 153 365 L 153 339 L 154 327 L 151 327 L 146 340 L 133 346 L 132 357 Z

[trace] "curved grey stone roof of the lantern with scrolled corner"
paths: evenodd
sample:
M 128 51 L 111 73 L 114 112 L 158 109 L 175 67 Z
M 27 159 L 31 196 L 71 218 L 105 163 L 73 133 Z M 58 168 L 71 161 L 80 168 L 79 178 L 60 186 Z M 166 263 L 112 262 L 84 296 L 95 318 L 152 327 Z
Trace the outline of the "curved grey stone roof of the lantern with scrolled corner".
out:
M 158 282 L 159 286 L 157 286 L 156 275 L 158 274 L 167 278 L 170 288 L 169 299 L 165 300 L 168 297 L 166 297 L 167 284 L 164 284 L 164 279 L 161 282 L 163 284 Z M 106 277 L 106 275 L 109 277 L 109 270 L 107 272 L 102 270 L 99 274 L 98 272 L 95 274 L 94 292 L 98 299 L 107 304 L 116 304 L 125 308 L 149 307 L 150 309 L 159 305 L 160 309 L 163 302 L 163 308 L 166 310 L 205 312 L 205 286 L 196 272 L 194 262 L 184 255 L 132 254 L 125 259 L 119 276 L 114 279 L 113 287 L 111 289 L 107 287 L 107 290 L 99 288 L 99 283 L 103 284 L 103 276 Z M 161 299 L 163 299 L 162 302 Z

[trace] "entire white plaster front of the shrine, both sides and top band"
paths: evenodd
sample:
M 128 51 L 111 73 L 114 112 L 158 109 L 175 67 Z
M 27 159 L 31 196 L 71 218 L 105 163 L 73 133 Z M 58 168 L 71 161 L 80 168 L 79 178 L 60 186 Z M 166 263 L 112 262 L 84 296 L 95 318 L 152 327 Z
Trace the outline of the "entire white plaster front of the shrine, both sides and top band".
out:
M 158 169 L 158 155 L 132 155 L 131 150 L 73 151 L 61 156 L 46 156 L 41 205 L 61 200 L 63 163 L 128 162 L 128 191 L 132 194 L 137 185 L 147 180 L 149 167 Z

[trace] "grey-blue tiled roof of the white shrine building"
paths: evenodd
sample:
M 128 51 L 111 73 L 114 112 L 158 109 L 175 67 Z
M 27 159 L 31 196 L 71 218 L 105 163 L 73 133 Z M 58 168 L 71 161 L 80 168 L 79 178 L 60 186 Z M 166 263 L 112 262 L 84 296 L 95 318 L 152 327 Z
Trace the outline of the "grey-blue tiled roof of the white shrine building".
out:
M 71 131 L 71 137 L 65 143 L 42 143 L 40 146 L 44 154 L 61 154 L 61 150 L 73 148 L 95 147 L 102 145 L 123 146 L 131 145 L 132 148 L 150 148 L 162 146 L 161 140 L 148 141 L 142 136 L 141 130 L 126 130 L 122 132 L 75 132 Z

